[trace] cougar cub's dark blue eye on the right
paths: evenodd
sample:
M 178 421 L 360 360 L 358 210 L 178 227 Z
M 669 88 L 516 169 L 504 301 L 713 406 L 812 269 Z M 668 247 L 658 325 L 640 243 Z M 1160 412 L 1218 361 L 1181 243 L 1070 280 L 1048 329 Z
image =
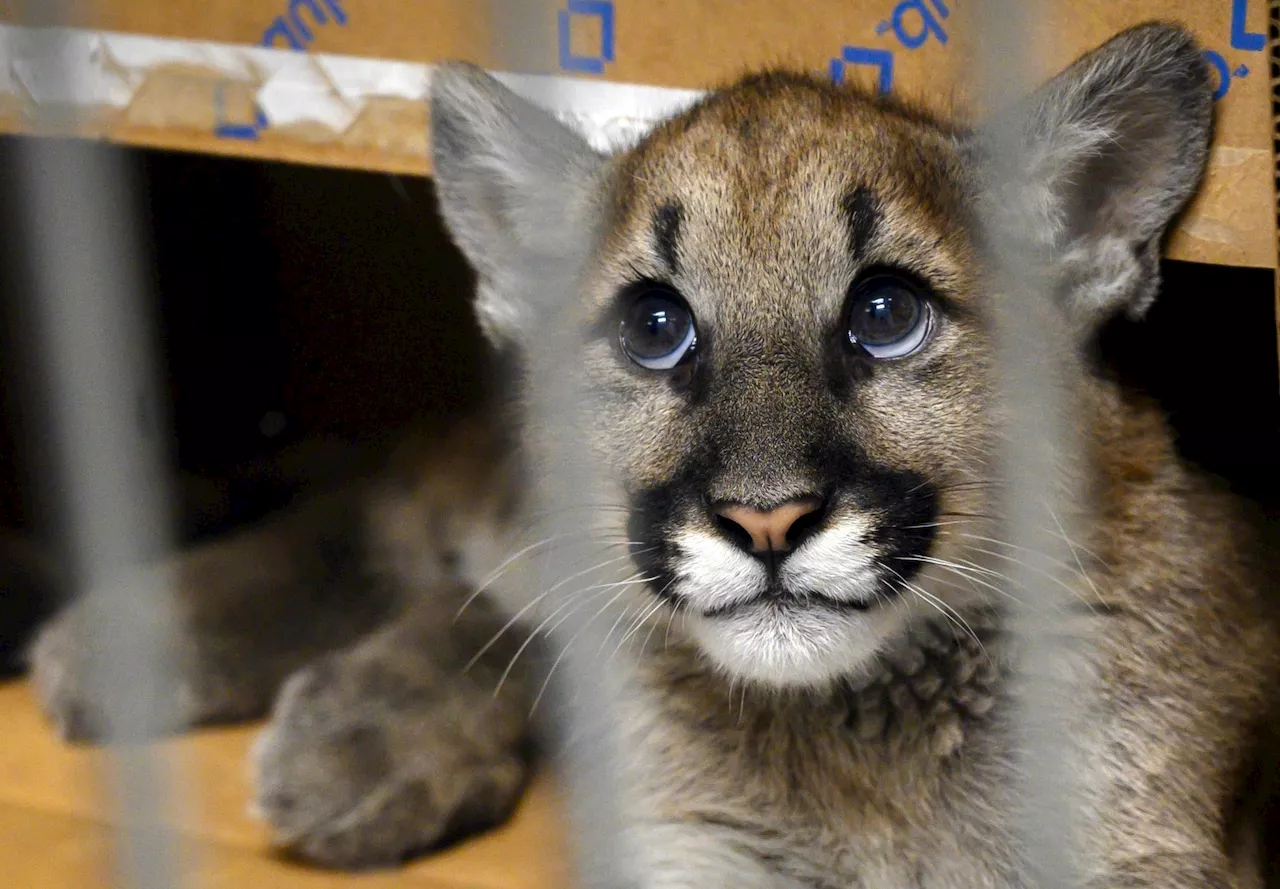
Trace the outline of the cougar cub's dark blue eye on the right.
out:
M 872 275 L 855 284 L 850 295 L 849 342 L 873 358 L 905 358 L 924 345 L 932 311 L 906 279 Z

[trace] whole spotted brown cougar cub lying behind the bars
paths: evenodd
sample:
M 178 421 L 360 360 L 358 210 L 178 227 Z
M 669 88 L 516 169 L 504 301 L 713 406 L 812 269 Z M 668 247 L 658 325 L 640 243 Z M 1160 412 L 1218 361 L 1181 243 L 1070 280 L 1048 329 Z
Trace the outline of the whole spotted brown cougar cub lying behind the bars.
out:
M 1280 666 L 1245 508 L 1087 365 L 1098 325 L 1156 290 L 1211 106 L 1193 40 L 1151 24 L 1010 113 L 1029 166 L 1007 214 L 1029 215 L 1007 221 L 1043 251 L 1062 347 L 1088 368 L 1068 582 L 1096 678 L 1073 766 L 1096 886 L 1247 879 L 1242 791 Z M 634 549 L 616 599 L 649 622 L 620 614 L 618 636 L 658 629 L 613 659 L 634 691 L 627 884 L 1025 885 L 995 608 L 1018 554 L 992 475 L 983 129 L 767 73 L 604 156 L 466 65 L 436 72 L 431 118 L 486 334 L 518 367 L 534 320 L 581 322 L 563 361 L 600 397 L 589 441 L 616 473 L 613 540 Z M 545 270 L 573 287 L 540 287 Z M 498 631 L 512 604 L 545 610 L 499 578 L 453 617 L 509 554 L 547 545 L 521 533 L 524 379 L 500 420 L 179 560 L 180 725 L 274 698 L 256 803 L 315 861 L 390 862 L 520 794 L 538 682 L 525 636 Z M 76 632 L 72 608 L 35 679 L 83 736 Z

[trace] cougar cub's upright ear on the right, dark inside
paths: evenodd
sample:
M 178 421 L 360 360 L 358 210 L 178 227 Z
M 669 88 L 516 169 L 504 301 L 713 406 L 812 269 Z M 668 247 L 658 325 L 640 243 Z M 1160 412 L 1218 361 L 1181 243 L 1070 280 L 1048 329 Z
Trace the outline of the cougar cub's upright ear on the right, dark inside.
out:
M 1047 248 L 1059 293 L 1079 320 L 1096 324 L 1119 310 L 1137 316 L 1151 304 L 1161 238 L 1203 175 L 1212 106 L 1194 38 L 1151 23 L 1083 56 L 993 122 L 1012 125 L 1028 177 L 1000 210 Z

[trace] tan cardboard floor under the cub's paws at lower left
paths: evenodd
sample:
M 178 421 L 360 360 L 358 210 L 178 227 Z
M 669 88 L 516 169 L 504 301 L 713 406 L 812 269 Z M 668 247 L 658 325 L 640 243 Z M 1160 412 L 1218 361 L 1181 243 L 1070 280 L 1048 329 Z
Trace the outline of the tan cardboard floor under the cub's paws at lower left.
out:
M 284 861 L 250 817 L 253 727 L 195 733 L 163 746 L 182 779 L 173 822 L 188 874 L 182 889 L 564 889 L 554 789 L 534 782 L 504 828 L 396 871 L 335 874 Z M 111 885 L 104 755 L 59 742 L 23 683 L 0 684 L 0 886 Z

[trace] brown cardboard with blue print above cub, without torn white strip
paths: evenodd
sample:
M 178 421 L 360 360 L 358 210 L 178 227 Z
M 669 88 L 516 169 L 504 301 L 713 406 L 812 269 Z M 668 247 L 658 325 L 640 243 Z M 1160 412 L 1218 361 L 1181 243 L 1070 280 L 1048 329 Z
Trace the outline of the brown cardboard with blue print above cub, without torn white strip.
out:
M 0 19 L 17 20 L 20 3 L 0 5 Z M 38 4 L 24 6 L 24 20 L 31 22 Z M 974 38 L 969 0 L 532 0 L 526 6 L 538 33 L 522 33 L 507 45 L 494 37 L 507 20 L 503 4 L 470 0 L 86 0 L 73 4 L 70 23 L 102 32 L 412 63 L 465 58 L 503 67 L 520 58 L 532 68 L 575 78 L 686 88 L 777 64 L 840 69 L 844 77 L 878 83 L 881 63 L 891 58 L 893 92 L 963 105 L 969 91 L 965 72 Z M 1047 18 L 1027 36 L 1044 75 L 1151 18 L 1184 22 L 1216 54 L 1215 70 L 1228 77 L 1217 105 L 1213 159 L 1203 193 L 1172 238 L 1170 253 L 1274 267 L 1265 0 L 1057 0 L 1044 8 Z M 561 17 L 568 37 L 563 46 L 556 32 Z M 608 49 L 607 20 L 614 37 Z M 846 60 L 868 54 L 881 63 Z M 146 74 L 127 107 L 88 114 L 82 132 L 129 145 L 399 173 L 429 170 L 421 102 L 392 96 L 361 100 L 337 124 L 273 123 L 250 139 L 215 136 L 219 114 L 253 118 L 264 77 L 229 79 L 225 72 L 198 65 L 165 65 Z M 20 97 L 0 93 L 0 129 L 26 129 L 29 111 Z

